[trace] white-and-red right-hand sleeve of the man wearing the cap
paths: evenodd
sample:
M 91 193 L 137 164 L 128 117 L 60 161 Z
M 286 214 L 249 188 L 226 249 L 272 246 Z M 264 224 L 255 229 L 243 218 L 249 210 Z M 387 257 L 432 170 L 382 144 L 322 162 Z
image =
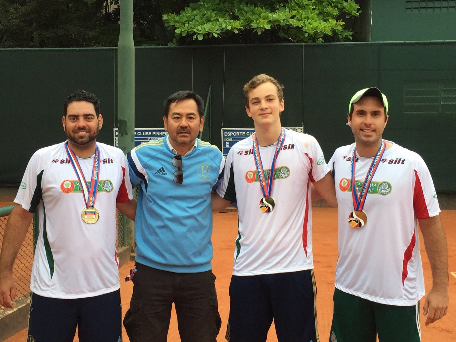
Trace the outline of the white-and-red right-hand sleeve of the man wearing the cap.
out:
M 431 218 L 439 214 L 439 202 L 429 169 L 423 158 L 416 156 L 412 164 L 415 174 L 413 207 L 416 218 Z

